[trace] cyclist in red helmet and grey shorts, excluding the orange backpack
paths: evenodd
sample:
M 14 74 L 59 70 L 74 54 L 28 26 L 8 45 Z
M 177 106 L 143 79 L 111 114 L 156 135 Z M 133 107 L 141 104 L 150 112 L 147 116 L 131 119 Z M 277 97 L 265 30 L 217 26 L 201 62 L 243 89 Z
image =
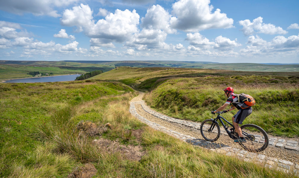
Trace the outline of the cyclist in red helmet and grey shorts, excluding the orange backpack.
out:
M 227 100 L 226 100 L 225 104 L 223 104 L 221 107 L 219 107 L 215 111 L 212 111 L 211 113 L 215 114 L 216 112 L 221 111 L 222 109 L 226 108 L 228 105 L 231 105 L 231 108 L 228 109 L 228 110 L 225 110 L 224 112 L 229 112 L 229 111 L 234 110 L 236 108 L 239 109 L 239 111 L 232 117 L 233 125 L 235 127 L 235 131 L 239 134 L 239 138 L 234 140 L 234 142 L 236 142 L 236 143 L 246 142 L 244 137 L 243 137 L 242 130 L 241 130 L 239 124 L 242 124 L 244 119 L 252 113 L 252 108 L 251 107 L 247 107 L 245 109 L 241 108 L 244 104 L 237 102 L 238 97 L 234 94 L 234 89 L 232 87 L 227 87 L 223 91 L 225 93 L 225 96 L 227 97 Z

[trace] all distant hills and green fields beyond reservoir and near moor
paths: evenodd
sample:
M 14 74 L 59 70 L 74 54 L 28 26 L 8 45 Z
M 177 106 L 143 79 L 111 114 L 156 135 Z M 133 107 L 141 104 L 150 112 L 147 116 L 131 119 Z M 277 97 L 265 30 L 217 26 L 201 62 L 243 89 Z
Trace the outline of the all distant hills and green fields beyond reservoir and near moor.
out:
M 83 74 L 89 71 L 102 70 L 103 72 L 114 69 L 115 66 L 129 67 L 164 67 L 194 68 L 231 71 L 268 71 L 268 72 L 299 72 L 299 65 L 269 65 L 256 63 L 213 63 L 205 61 L 8 61 L 0 60 L 0 80 L 31 77 L 29 71 L 45 73 Z M 139 72 L 140 74 L 141 72 Z

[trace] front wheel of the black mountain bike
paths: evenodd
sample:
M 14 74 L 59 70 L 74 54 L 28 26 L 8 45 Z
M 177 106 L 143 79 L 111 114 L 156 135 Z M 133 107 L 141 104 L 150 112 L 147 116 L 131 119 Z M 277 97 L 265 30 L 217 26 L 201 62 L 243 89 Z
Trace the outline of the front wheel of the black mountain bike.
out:
M 215 142 L 219 139 L 220 127 L 212 119 L 206 119 L 200 125 L 200 133 L 205 140 Z

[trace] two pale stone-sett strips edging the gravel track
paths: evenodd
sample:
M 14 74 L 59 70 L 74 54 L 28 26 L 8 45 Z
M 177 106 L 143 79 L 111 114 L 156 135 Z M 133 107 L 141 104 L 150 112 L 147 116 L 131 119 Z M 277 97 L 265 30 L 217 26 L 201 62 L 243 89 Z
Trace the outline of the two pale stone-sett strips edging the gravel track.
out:
M 147 107 L 147 105 L 145 104 L 144 101 L 142 101 L 142 96 L 144 93 L 141 93 L 141 95 L 138 95 L 138 97 L 135 97 L 132 99 L 133 102 L 130 103 L 130 113 L 132 115 L 134 115 L 136 118 L 138 118 L 140 121 L 146 123 L 147 125 L 149 125 L 150 127 L 162 131 L 164 133 L 167 133 L 171 136 L 174 136 L 178 139 L 181 139 L 182 141 L 188 142 L 190 144 L 193 144 L 195 146 L 201 146 L 204 147 L 206 149 L 210 149 L 211 151 L 216 151 L 218 153 L 223 153 L 226 154 L 228 156 L 236 156 L 238 159 L 243 159 L 245 161 L 252 161 L 255 163 L 260 163 L 261 165 L 264 165 L 265 167 L 268 168 L 275 168 L 277 170 L 283 171 L 283 172 L 287 172 L 287 173 L 291 173 L 294 175 L 299 176 L 299 165 L 298 165 L 298 161 L 297 162 L 290 162 L 287 160 L 283 160 L 283 159 L 279 159 L 279 158 L 275 158 L 275 157 L 271 157 L 271 156 L 266 156 L 263 154 L 257 154 L 257 153 L 251 153 L 239 148 L 234 148 L 234 147 L 230 147 L 228 145 L 225 144 L 217 144 L 214 142 L 208 142 L 203 140 L 202 138 L 195 138 L 183 133 L 179 133 L 177 131 L 174 131 L 172 129 L 169 129 L 167 127 L 164 127 L 160 124 L 157 124 L 155 122 L 150 121 L 149 119 L 141 116 L 137 110 L 136 107 L 137 105 L 142 106 L 142 108 L 144 109 L 144 111 L 148 112 L 149 114 L 160 118 L 164 121 L 167 121 L 169 123 L 175 124 L 177 126 L 180 126 L 182 128 L 191 128 L 191 129 L 196 129 L 199 130 L 200 129 L 200 123 L 196 123 L 196 122 L 191 122 L 191 121 L 185 121 L 185 120 L 180 120 L 180 119 L 176 119 L 176 118 L 171 118 L 167 115 L 163 115 L 160 114 L 158 112 L 155 112 L 154 110 L 150 109 L 149 107 Z M 221 130 L 222 134 L 227 134 L 226 132 L 224 132 L 224 130 Z M 292 140 L 279 140 L 277 138 L 270 138 L 271 142 L 273 142 L 273 147 L 274 145 L 276 146 L 277 144 L 282 144 L 282 146 L 280 148 L 285 148 L 288 149 L 290 147 L 292 147 L 290 150 L 297 152 L 298 151 L 298 142 L 297 141 L 292 141 Z M 275 144 L 274 144 L 275 143 Z M 271 146 L 271 145 L 270 145 Z M 297 147 L 297 149 L 293 149 L 293 147 Z

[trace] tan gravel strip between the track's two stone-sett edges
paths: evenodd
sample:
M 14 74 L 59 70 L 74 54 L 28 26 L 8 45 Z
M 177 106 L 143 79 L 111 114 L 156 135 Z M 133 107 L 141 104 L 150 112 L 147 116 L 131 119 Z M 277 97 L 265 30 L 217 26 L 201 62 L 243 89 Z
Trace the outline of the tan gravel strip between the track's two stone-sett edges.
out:
M 143 95 L 144 95 L 144 92 L 140 92 L 140 94 L 137 97 L 133 98 L 131 102 L 142 101 Z M 158 118 L 158 117 L 150 114 L 149 112 L 146 112 L 140 103 L 135 103 L 135 108 L 136 108 L 136 112 L 139 115 L 141 115 L 142 117 L 146 118 L 147 120 L 149 120 L 151 122 L 160 124 L 161 126 L 164 126 L 169 130 L 174 130 L 176 132 L 183 133 L 185 135 L 194 137 L 196 139 L 203 139 L 199 130 L 196 130 L 194 128 L 182 127 L 181 125 L 173 124 L 168 121 L 162 120 L 161 118 Z M 269 135 L 269 138 L 270 137 L 271 136 Z M 280 139 L 288 139 L 288 138 L 280 137 Z M 242 150 L 242 147 L 239 144 L 234 143 L 234 141 L 231 138 L 229 138 L 228 136 L 225 136 L 223 134 L 221 134 L 219 140 L 217 140 L 216 143 L 225 144 L 232 148 Z M 279 159 L 288 160 L 290 162 L 295 163 L 296 165 L 298 164 L 298 160 L 299 160 L 299 152 L 298 151 L 286 150 L 284 148 L 278 148 L 278 147 L 274 147 L 274 146 L 268 146 L 266 148 L 266 150 L 260 152 L 260 154 L 263 154 L 268 157 L 276 158 L 277 160 L 279 160 Z

